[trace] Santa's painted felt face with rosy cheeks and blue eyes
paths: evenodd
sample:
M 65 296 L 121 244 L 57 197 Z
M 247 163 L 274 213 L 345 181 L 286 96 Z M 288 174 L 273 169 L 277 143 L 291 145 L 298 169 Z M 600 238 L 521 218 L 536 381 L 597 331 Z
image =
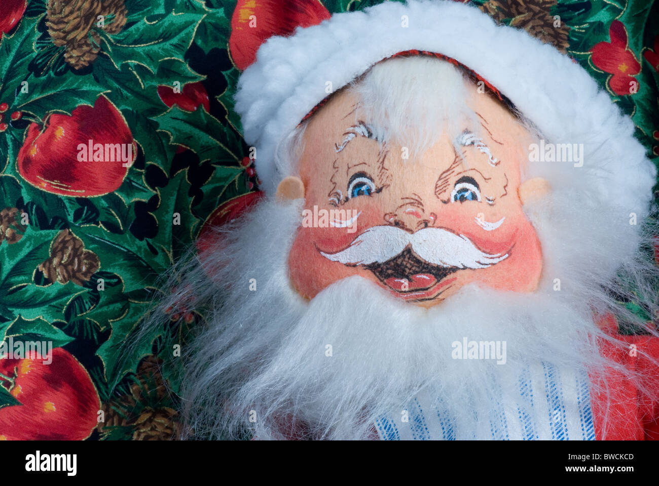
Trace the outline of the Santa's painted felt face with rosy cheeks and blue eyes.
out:
M 351 275 L 422 306 L 472 282 L 536 288 L 540 243 L 517 193 L 529 135 L 489 95 L 470 95 L 474 120 L 419 153 L 378 140 L 381 130 L 360 118 L 349 91 L 314 115 L 300 167 L 303 221 L 289 256 L 303 296 Z

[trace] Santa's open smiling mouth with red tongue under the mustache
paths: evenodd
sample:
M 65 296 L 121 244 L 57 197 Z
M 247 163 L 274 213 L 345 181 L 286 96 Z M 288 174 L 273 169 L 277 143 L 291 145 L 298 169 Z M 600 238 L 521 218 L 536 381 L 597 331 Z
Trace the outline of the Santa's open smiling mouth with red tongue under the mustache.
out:
M 384 263 L 371 263 L 364 267 L 378 277 L 386 288 L 405 300 L 432 300 L 444 292 L 453 279 L 445 279 L 458 267 L 433 265 L 418 257 L 411 248 Z

